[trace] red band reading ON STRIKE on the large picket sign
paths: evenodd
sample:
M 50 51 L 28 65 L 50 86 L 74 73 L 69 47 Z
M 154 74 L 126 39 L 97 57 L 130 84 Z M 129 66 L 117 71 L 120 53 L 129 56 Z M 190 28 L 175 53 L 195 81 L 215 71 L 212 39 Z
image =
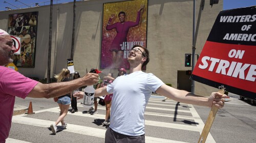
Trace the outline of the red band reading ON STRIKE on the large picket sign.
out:
M 256 46 L 206 41 L 194 75 L 256 93 Z

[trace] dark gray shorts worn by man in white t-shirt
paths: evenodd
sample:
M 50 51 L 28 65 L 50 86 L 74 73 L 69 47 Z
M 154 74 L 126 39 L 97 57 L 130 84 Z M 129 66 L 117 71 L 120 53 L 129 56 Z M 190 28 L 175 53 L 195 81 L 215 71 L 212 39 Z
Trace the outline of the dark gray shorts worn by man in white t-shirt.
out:
M 105 143 L 145 143 L 145 134 L 130 136 L 115 132 L 108 128 L 105 133 Z

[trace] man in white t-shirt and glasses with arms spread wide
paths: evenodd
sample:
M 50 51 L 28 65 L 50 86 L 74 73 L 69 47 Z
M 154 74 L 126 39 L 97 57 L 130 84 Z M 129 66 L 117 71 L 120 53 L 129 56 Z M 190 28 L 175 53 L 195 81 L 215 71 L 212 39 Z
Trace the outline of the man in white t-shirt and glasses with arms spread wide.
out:
M 110 128 L 105 133 L 105 143 L 145 142 L 145 108 L 152 92 L 187 104 L 222 108 L 227 95 L 211 93 L 207 97 L 177 90 L 164 84 L 152 73 L 144 73 L 141 68 L 149 61 L 148 50 L 134 45 L 129 51 L 130 74 L 117 77 L 114 82 L 95 91 L 95 97 L 113 93 Z M 83 93 L 77 97 L 82 98 Z M 217 97 L 217 98 L 216 98 Z

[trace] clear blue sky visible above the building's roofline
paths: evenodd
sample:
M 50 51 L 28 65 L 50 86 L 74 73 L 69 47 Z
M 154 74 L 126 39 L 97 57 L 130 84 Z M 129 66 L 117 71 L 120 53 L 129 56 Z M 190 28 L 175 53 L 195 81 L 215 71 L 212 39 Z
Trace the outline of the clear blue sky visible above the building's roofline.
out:
M 4 3 L 5 1 L 7 3 Z M 77 0 L 77 2 L 78 1 L 81 1 L 81 0 Z M 222 0 L 219 0 L 219 1 L 222 1 Z M 67 2 L 73 2 L 73 0 L 57 0 L 57 1 L 54 0 L 53 4 L 67 3 Z M 197 2 L 199 3 L 200 0 Z M 17 8 L 28 8 L 28 6 L 35 7 L 35 3 L 38 3 L 39 6 L 50 5 L 50 0 L 18 0 L 17 2 L 15 2 L 15 0 L 0 0 L 0 11 L 7 10 L 5 7 L 9 7 L 13 10 Z M 26 6 L 25 4 L 28 6 Z M 205 0 L 205 4 L 209 4 L 209 0 Z M 255 6 L 255 5 L 256 5 L 256 0 L 223 0 L 223 10 Z

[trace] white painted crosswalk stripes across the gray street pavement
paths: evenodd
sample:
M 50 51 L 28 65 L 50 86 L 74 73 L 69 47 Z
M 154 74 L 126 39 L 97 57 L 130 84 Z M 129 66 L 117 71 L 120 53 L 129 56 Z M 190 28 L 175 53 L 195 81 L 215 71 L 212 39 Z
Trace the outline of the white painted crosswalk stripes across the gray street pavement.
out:
M 164 128 L 170 128 L 170 129 L 179 129 L 179 130 L 187 130 L 187 131 L 194 131 L 194 132 L 202 132 L 202 129 L 204 127 L 204 123 L 199 117 L 196 109 L 194 108 L 193 105 L 189 104 L 182 104 L 185 107 L 179 106 L 178 112 L 183 112 L 183 113 L 190 113 L 191 116 L 184 116 L 184 115 L 173 115 L 171 113 L 161 113 L 159 111 L 177 111 L 175 107 L 177 106 L 177 102 L 173 100 L 166 100 L 165 102 L 161 101 L 163 98 L 155 98 L 152 96 L 150 98 L 150 101 L 146 107 L 146 112 L 145 115 L 152 116 L 152 117 L 166 117 L 166 118 L 176 118 L 176 119 L 185 119 L 185 120 L 194 120 L 196 126 L 191 126 L 187 124 L 176 124 L 175 122 L 173 123 L 166 123 L 166 122 L 160 122 L 160 121 L 151 121 L 151 120 L 145 120 L 145 125 L 148 126 L 155 126 L 155 127 L 164 127 Z M 82 107 L 81 104 L 78 102 L 77 106 Z M 105 107 L 103 106 L 98 106 L 99 110 L 105 110 Z M 150 111 L 147 111 L 150 110 Z M 154 112 L 156 110 L 156 112 Z M 48 108 L 48 109 L 43 109 L 43 110 L 38 110 L 34 111 L 35 114 L 40 114 L 40 113 L 45 113 L 45 112 L 54 112 L 54 113 L 59 113 L 59 107 L 53 107 L 53 108 Z M 95 118 L 95 119 L 104 119 L 105 115 L 104 114 L 95 114 L 95 115 L 90 115 L 88 113 L 82 113 L 82 112 L 75 112 L 72 114 L 72 116 L 76 117 L 86 117 L 86 118 Z M 49 125 L 54 123 L 55 121 L 49 121 L 49 120 L 41 120 L 41 119 L 35 119 L 35 118 L 30 118 L 29 116 L 23 114 L 23 115 L 17 115 L 13 116 L 12 118 L 13 123 L 17 124 L 23 124 L 23 125 L 31 125 L 31 126 L 36 126 L 36 127 L 44 127 L 44 128 L 49 128 Z M 86 127 L 86 128 L 85 128 Z M 75 125 L 75 124 L 70 124 L 68 123 L 67 129 L 63 130 L 64 132 L 71 132 L 71 133 L 76 133 L 76 134 L 81 134 L 81 135 L 89 135 L 89 136 L 94 136 L 94 137 L 99 137 L 99 138 L 104 138 L 105 136 L 105 131 L 106 128 L 94 128 L 94 127 L 87 127 L 87 126 L 81 126 L 81 125 Z M 179 140 L 171 140 L 171 139 L 163 139 L 163 138 L 158 138 L 158 137 L 152 137 L 152 136 L 147 136 L 146 134 L 146 142 L 148 143 L 153 143 L 153 142 L 174 142 L 174 143 L 182 143 L 184 141 L 179 141 Z M 13 143 L 13 142 L 24 142 L 26 143 L 27 141 L 23 140 L 18 140 L 18 139 L 12 139 L 8 138 L 7 143 Z M 214 138 L 211 136 L 211 134 L 208 134 L 206 142 L 213 142 L 215 143 Z

